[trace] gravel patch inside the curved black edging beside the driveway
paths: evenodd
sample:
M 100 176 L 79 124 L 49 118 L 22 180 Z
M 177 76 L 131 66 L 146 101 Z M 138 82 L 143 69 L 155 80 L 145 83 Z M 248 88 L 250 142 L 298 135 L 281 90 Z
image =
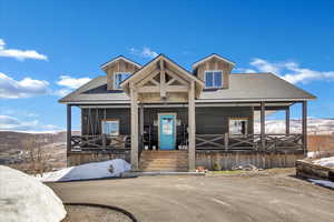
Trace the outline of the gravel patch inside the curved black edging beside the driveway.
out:
M 131 222 L 124 213 L 110 209 L 86 205 L 66 205 L 62 222 Z

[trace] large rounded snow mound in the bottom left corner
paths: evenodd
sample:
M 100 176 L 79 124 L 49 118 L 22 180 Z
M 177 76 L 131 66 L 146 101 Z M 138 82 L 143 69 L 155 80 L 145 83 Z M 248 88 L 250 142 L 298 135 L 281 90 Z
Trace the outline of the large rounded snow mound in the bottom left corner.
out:
M 50 188 L 0 165 L 0 221 L 59 222 L 65 216 L 62 202 Z

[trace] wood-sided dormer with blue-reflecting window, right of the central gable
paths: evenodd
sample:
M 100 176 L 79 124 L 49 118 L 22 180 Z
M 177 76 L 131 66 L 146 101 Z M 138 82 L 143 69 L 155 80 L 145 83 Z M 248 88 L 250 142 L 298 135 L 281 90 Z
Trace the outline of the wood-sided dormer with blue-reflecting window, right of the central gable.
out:
M 234 62 L 214 53 L 195 62 L 193 72 L 205 82 L 205 89 L 227 89 L 234 65 Z

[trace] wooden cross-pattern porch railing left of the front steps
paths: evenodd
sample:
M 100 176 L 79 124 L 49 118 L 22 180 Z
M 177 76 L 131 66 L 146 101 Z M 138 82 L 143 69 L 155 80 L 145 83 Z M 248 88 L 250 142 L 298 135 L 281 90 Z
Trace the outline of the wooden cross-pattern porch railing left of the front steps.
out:
M 72 135 L 72 150 L 108 150 L 130 148 L 129 135 Z

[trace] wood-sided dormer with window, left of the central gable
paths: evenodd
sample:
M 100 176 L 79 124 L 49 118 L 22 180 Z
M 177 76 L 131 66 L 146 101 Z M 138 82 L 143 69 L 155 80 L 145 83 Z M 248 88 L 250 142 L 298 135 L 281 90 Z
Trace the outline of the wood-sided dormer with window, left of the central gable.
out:
M 119 56 L 101 65 L 107 73 L 107 89 L 122 90 L 120 83 L 141 68 L 140 64 Z

